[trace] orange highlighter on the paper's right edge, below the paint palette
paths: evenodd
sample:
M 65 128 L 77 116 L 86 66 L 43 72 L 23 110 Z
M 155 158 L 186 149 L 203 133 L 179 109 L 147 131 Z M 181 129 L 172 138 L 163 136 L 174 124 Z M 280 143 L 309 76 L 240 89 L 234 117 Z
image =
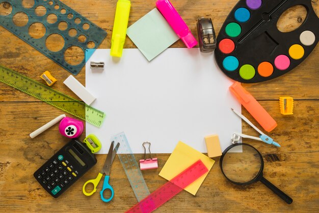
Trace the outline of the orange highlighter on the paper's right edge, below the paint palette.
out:
M 257 100 L 242 87 L 240 82 L 235 82 L 229 87 L 231 93 L 247 109 L 260 126 L 267 132 L 277 127 L 273 117 L 257 102 Z

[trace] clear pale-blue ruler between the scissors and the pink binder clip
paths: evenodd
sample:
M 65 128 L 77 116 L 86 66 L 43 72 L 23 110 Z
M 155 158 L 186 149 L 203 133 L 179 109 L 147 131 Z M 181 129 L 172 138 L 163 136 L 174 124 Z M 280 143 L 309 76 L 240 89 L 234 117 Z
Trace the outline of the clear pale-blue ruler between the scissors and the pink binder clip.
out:
M 120 143 L 117 154 L 123 165 L 126 176 L 134 191 L 137 200 L 140 202 L 148 195 L 150 195 L 148 187 L 145 183 L 139 165 L 132 153 L 124 132 L 121 132 L 111 138 L 111 141 Z

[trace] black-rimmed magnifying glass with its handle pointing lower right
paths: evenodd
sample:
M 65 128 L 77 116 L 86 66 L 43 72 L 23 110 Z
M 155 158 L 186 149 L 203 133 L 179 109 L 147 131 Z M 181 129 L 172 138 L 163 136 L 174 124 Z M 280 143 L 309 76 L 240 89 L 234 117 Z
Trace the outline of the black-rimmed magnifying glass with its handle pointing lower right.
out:
M 224 176 L 234 184 L 249 185 L 260 181 L 286 203 L 293 202 L 293 199 L 262 176 L 262 156 L 249 144 L 237 143 L 227 147 L 220 159 L 220 167 Z

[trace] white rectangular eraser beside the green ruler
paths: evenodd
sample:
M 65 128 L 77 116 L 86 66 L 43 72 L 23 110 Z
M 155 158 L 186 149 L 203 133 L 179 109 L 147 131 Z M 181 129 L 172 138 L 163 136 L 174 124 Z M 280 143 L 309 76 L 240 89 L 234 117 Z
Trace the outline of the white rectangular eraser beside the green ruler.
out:
M 78 98 L 82 99 L 87 105 L 90 105 L 95 101 L 95 97 L 73 76 L 69 76 L 63 82 L 67 87 L 69 87 Z

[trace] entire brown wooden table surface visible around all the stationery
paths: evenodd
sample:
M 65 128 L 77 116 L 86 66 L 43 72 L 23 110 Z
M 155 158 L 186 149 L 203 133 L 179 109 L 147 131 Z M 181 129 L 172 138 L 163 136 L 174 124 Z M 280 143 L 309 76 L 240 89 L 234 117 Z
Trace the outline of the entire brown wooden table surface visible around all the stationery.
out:
M 32 5 L 33 0 L 22 2 Z M 115 0 L 64 0 L 63 2 L 107 31 L 108 36 L 99 48 L 111 47 Z M 210 17 L 218 33 L 236 1 L 172 0 L 172 4 L 197 37 L 197 18 Z M 319 2 L 313 0 L 312 4 L 319 14 Z M 154 7 L 154 0 L 131 1 L 128 26 Z M 0 4 L 0 12 L 2 10 L 4 10 L 3 4 Z M 305 14 L 306 11 L 300 7 L 290 9 L 284 15 L 285 19 L 278 22 L 278 27 L 287 30 L 300 25 Z M 75 97 L 62 83 L 70 75 L 65 69 L 3 27 L 0 27 L 0 38 L 0 64 L 40 82 L 43 81 L 39 75 L 45 70 L 50 70 L 58 79 L 52 87 Z M 172 48 L 181 47 L 183 48 L 184 44 L 180 40 L 172 45 Z M 136 46 L 126 37 L 125 48 L 136 48 Z M 81 59 L 84 55 L 73 51 L 68 57 L 73 61 Z M 279 141 L 282 147 L 275 148 L 257 141 L 245 141 L 261 152 L 265 162 L 264 177 L 293 198 L 293 204 L 284 203 L 260 182 L 249 186 L 233 185 L 222 175 L 219 158 L 216 158 L 214 167 L 195 197 L 187 192 L 181 192 L 156 212 L 318 212 L 318 57 L 317 46 L 304 62 L 288 74 L 263 83 L 244 84 L 244 87 L 277 121 L 278 127 L 270 133 L 270 136 Z M 107 72 L 107 69 L 104 72 Z M 85 83 L 85 68 L 76 79 Z M 280 114 L 278 101 L 280 96 L 294 97 L 294 115 Z M 31 139 L 29 134 L 62 113 L 55 107 L 0 83 L 0 211 L 124 212 L 134 205 L 137 200 L 118 158 L 112 167 L 112 184 L 116 194 L 110 203 L 103 203 L 99 193 L 91 197 L 82 194 L 83 183 L 95 177 L 106 155 L 97 155 L 98 163 L 95 167 L 58 199 L 48 195 L 35 180 L 33 173 L 69 139 L 60 135 L 57 125 L 34 139 Z M 245 109 L 243 114 L 254 121 Z M 254 123 L 256 124 L 255 121 Z M 259 125 L 257 127 L 261 128 Z M 243 133 L 256 135 L 246 123 L 243 123 Z M 84 139 L 84 135 L 81 139 Z M 136 155 L 137 159 L 141 157 Z M 158 173 L 169 154 L 156 154 L 156 157 L 159 168 L 142 172 L 150 192 L 166 183 Z

